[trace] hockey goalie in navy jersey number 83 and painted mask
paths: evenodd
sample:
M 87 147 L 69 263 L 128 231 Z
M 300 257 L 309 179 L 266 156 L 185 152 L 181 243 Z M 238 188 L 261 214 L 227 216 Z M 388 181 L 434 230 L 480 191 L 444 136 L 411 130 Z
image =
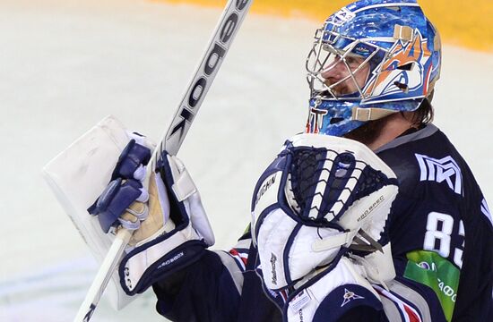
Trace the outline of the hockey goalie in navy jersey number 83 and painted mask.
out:
M 441 63 L 414 0 L 329 16 L 307 56 L 306 131 L 266 166 L 230 250 L 212 250 L 184 163 L 147 166 L 151 143 L 128 134 L 89 208 L 100 232 L 134 232 L 121 290 L 152 288 L 173 321 L 493 320 L 488 205 L 431 123 Z

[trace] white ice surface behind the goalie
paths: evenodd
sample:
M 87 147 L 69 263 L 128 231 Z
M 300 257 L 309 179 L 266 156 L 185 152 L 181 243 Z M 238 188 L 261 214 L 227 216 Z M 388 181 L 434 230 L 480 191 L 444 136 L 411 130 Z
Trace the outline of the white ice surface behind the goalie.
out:
M 0 2 L 0 321 L 69 321 L 97 266 L 41 168 L 101 118 L 159 140 L 220 9 L 143 0 Z M 179 157 L 193 175 L 217 248 L 249 222 L 257 176 L 303 131 L 304 63 L 314 21 L 249 15 Z M 493 55 L 446 46 L 436 124 L 493 202 Z M 151 293 L 91 321 L 160 321 Z

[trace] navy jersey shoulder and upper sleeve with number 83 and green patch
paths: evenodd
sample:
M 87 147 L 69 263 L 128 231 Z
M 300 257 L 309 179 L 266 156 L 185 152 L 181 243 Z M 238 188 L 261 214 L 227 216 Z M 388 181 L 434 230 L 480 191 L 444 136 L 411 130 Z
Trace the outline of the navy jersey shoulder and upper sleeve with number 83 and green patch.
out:
M 434 125 L 376 153 L 399 181 L 389 225 L 397 274 L 431 287 L 449 320 L 493 320 L 491 215 L 463 157 Z

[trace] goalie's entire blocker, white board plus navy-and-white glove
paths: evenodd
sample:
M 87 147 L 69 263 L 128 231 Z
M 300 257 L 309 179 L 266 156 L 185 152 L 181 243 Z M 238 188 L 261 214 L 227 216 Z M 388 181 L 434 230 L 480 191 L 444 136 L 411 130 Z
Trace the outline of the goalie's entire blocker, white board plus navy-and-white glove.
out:
M 99 142 L 96 147 L 95 141 Z M 119 272 L 111 275 L 108 286 L 108 298 L 115 309 L 124 308 L 134 299 L 129 294 L 143 292 L 151 284 L 149 281 L 152 277 L 148 274 L 151 270 L 147 270 L 153 264 L 149 260 L 151 256 L 155 255 L 153 259 L 156 263 L 166 263 L 170 259 L 169 263 L 173 265 L 163 265 L 160 270 L 164 267 L 170 269 L 179 263 L 193 261 L 195 256 L 192 256 L 192 252 L 198 258 L 201 249 L 214 242 L 195 184 L 176 157 L 165 153 L 162 156 L 165 161 L 160 163 L 160 173 L 151 174 L 149 190 L 143 188 L 146 176 L 143 165 L 149 161 L 145 151 L 153 148 L 150 140 L 127 131 L 122 123 L 110 115 L 43 169 L 56 198 L 99 263 L 114 241 L 118 224 L 134 231 L 124 257 L 120 259 L 120 263 L 125 264 L 120 265 Z M 88 155 L 91 157 L 81 157 Z M 164 182 L 167 182 L 168 187 Z M 103 198 L 98 196 L 100 191 L 104 191 Z M 170 200 L 168 191 L 173 195 Z M 99 216 L 88 216 L 87 208 Z M 170 208 L 178 210 L 173 212 L 171 219 L 168 217 Z M 192 219 L 190 214 L 193 214 Z M 199 226 L 196 231 L 195 226 Z M 201 237 L 197 232 L 202 232 Z M 165 240 L 170 242 L 163 249 Z M 186 256 L 180 255 L 178 249 L 172 253 L 172 245 L 187 241 L 196 246 L 196 251 L 187 250 L 183 254 Z M 153 242 L 153 247 L 146 242 Z M 146 248 L 150 250 L 145 251 Z M 166 257 L 169 251 L 171 253 Z M 149 258 L 144 260 L 146 256 Z M 136 269 L 131 269 L 133 264 Z M 120 276 L 127 278 L 123 280 Z

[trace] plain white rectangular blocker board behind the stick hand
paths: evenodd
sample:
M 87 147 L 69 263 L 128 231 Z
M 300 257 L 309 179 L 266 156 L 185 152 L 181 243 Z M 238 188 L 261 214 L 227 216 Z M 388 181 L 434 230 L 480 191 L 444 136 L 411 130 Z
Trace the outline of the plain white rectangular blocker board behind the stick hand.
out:
M 43 168 L 49 187 L 99 264 L 108 253 L 114 235 L 103 233 L 98 217 L 91 216 L 87 208 L 108 185 L 129 140 L 124 125 L 110 115 Z M 114 309 L 123 309 L 134 300 L 122 290 L 117 271 L 111 276 L 105 294 Z

